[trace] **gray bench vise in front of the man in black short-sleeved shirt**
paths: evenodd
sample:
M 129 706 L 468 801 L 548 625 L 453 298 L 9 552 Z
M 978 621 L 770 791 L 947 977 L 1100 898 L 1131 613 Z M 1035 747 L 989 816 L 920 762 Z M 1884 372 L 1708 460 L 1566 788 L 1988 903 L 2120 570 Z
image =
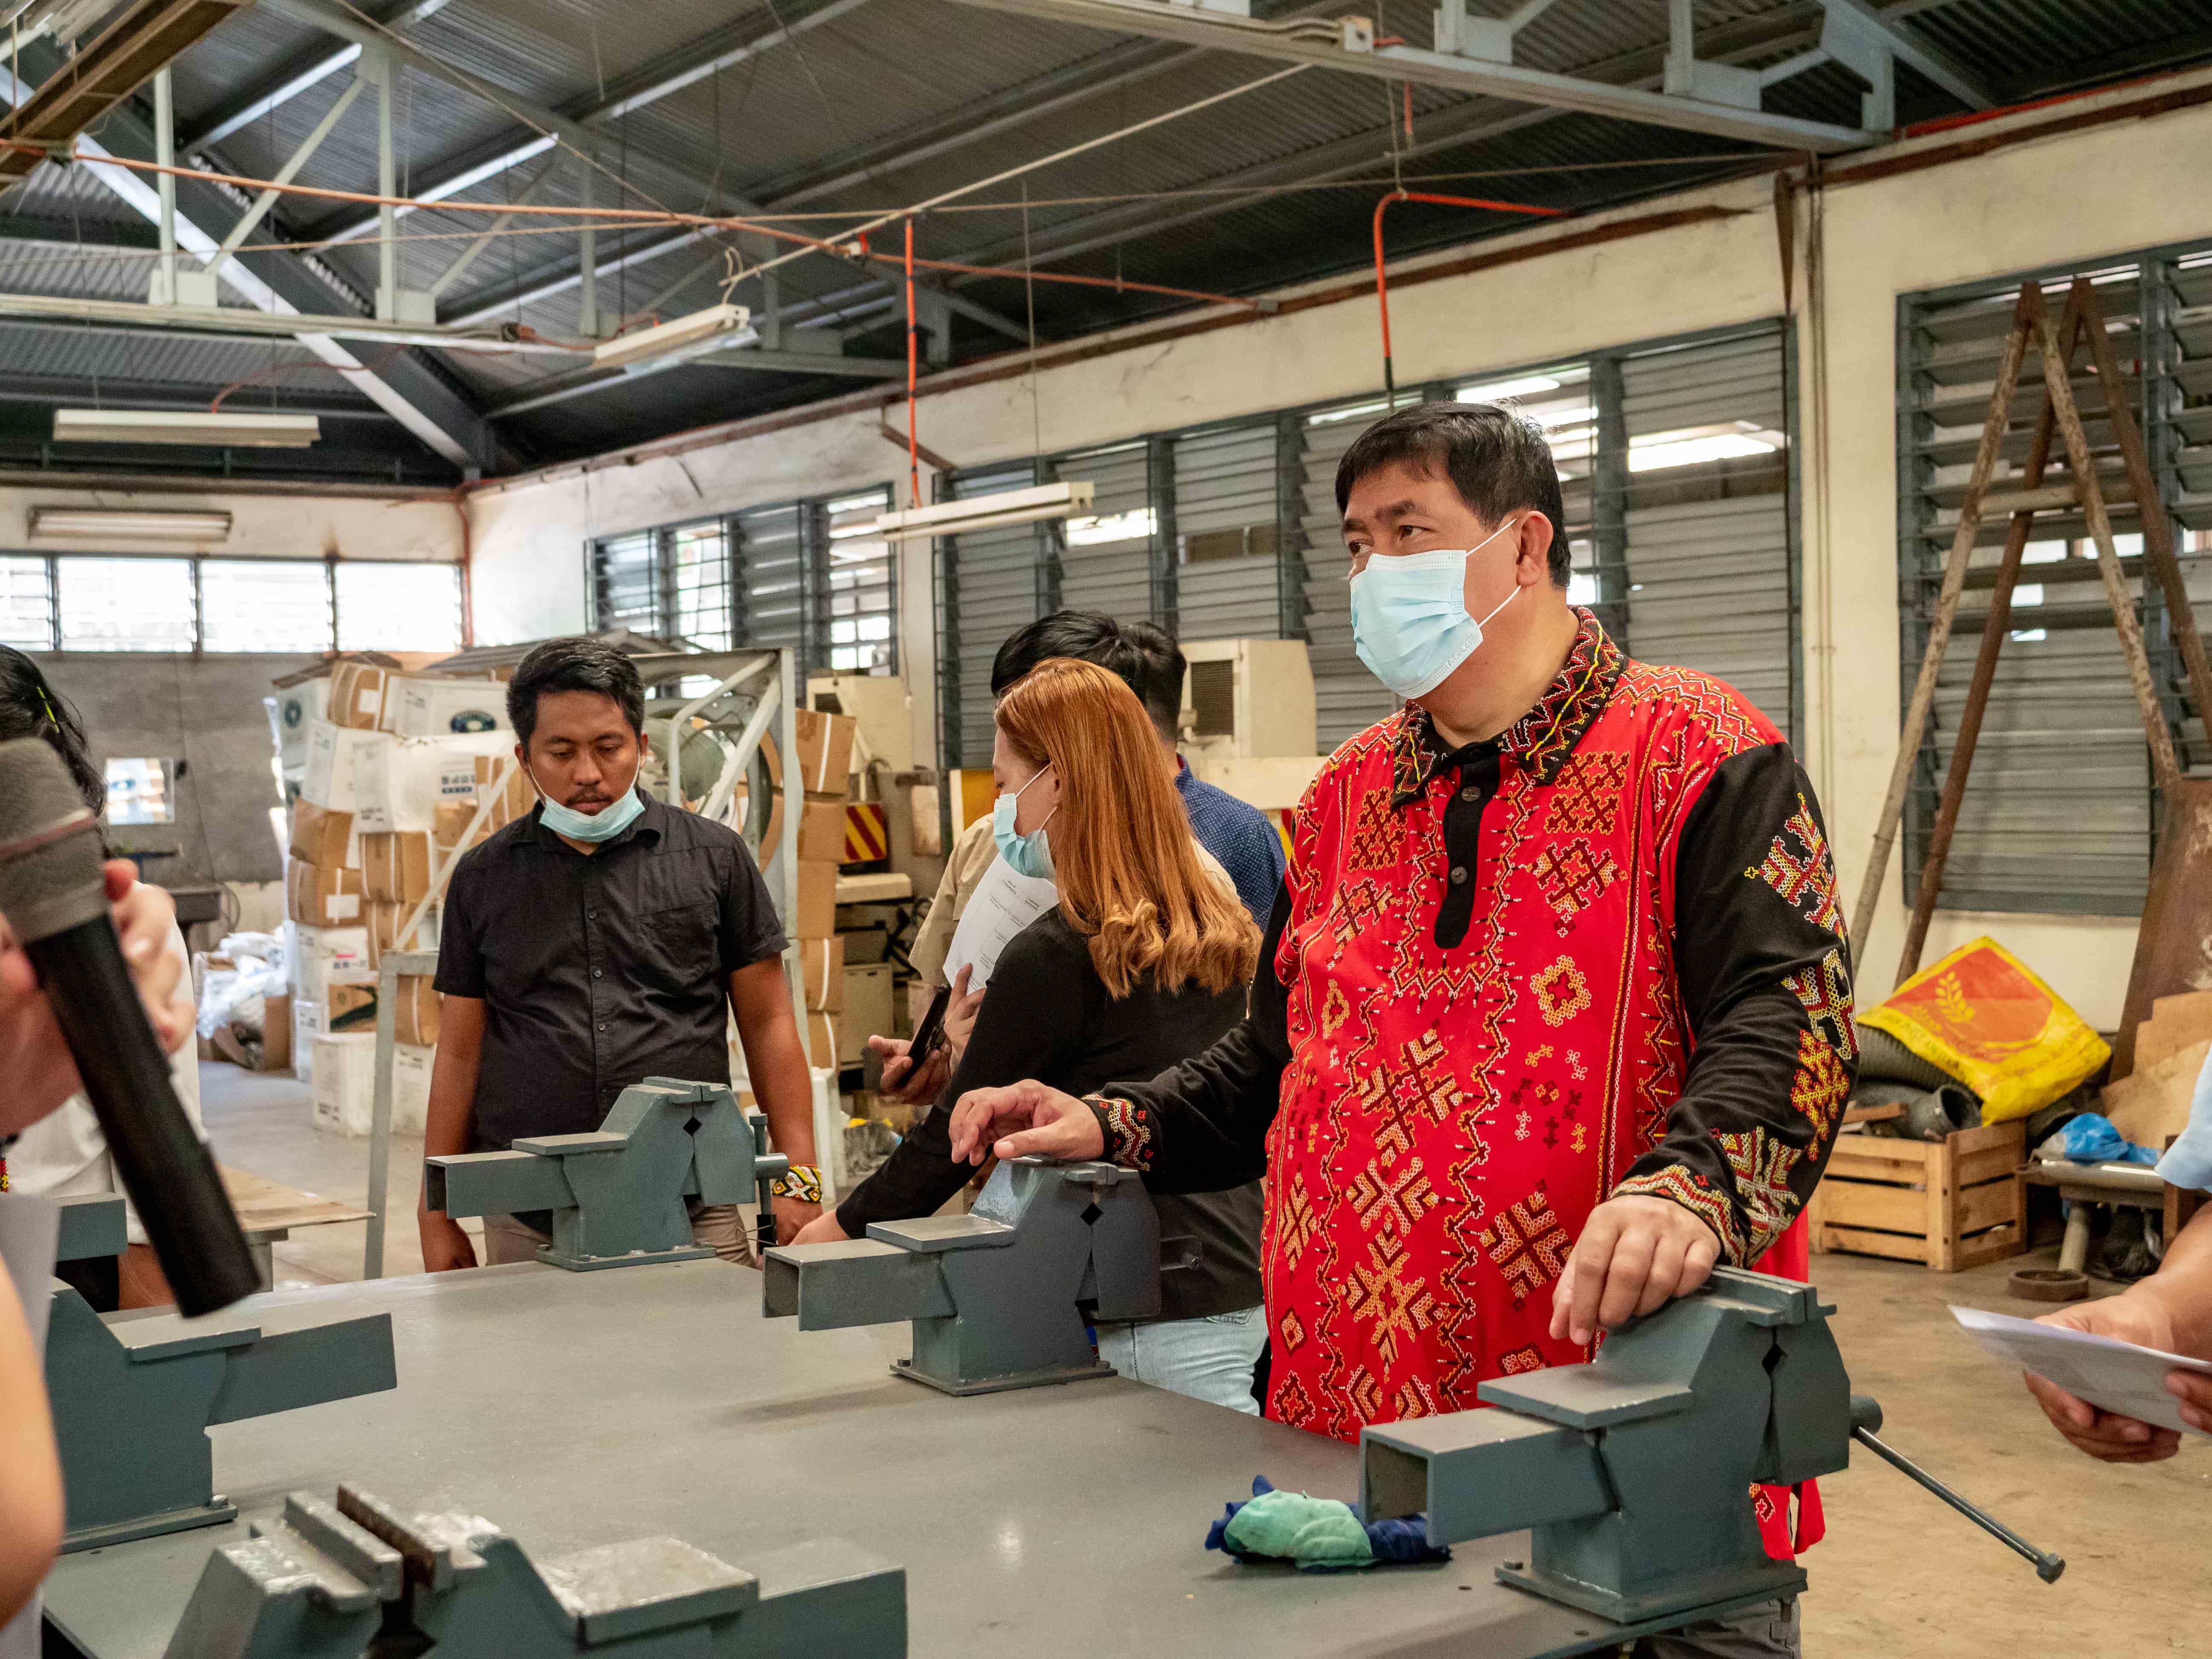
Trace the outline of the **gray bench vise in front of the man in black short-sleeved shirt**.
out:
M 646 1077 L 588 1135 L 535 1135 L 507 1152 L 422 1159 L 427 1206 L 449 1217 L 551 1210 L 540 1261 L 584 1272 L 712 1256 L 692 1243 L 686 1197 L 759 1199 L 790 1168 L 761 1150 L 728 1084 Z

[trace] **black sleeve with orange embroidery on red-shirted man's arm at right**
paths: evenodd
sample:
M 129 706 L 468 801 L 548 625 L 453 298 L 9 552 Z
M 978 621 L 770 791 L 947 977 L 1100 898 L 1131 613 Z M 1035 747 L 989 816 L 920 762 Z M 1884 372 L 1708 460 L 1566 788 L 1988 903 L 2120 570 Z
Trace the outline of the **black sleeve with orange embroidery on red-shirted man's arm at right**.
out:
M 1686 1206 L 1747 1267 L 1812 1197 L 1858 1066 L 1836 865 L 1783 743 L 1723 761 L 1683 818 L 1674 969 L 1688 1075 L 1615 1194 Z

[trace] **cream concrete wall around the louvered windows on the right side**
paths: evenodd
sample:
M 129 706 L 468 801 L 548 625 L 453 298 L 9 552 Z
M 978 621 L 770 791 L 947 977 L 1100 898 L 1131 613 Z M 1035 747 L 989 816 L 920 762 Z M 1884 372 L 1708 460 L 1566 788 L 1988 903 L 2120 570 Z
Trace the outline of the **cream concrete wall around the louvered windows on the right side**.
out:
M 2066 111 L 2088 113 L 2132 95 L 2079 100 Z M 2008 124 L 2051 115 L 2037 111 Z M 1898 153 L 1955 137 L 1920 139 Z M 2212 108 L 2190 108 L 1834 188 L 1825 195 L 1823 226 L 1825 316 L 1805 301 L 1809 215 L 1798 212 L 1807 761 L 1827 807 L 1845 894 L 1860 883 L 1900 719 L 1896 299 L 2055 261 L 2212 239 L 2208 150 Z M 1579 226 L 1701 206 L 1725 217 L 1394 290 L 1391 325 L 1405 378 L 1473 376 L 1781 314 L 1781 254 L 1765 179 Z M 1557 234 L 1557 228 L 1533 230 L 1520 241 Z M 1482 252 L 1506 246 L 1513 243 L 1486 241 Z M 1409 261 L 1405 270 L 1451 257 Z M 1816 343 L 1825 354 L 1812 349 Z M 1060 367 L 1046 354 L 1046 363 L 1035 409 L 1046 453 L 1360 396 L 1380 378 L 1374 303 L 1365 296 L 1175 341 L 1137 338 L 1128 349 Z M 958 372 L 947 376 L 958 378 Z M 471 493 L 480 637 L 580 626 L 582 546 L 593 535 L 898 478 L 902 456 L 880 436 L 878 418 L 869 407 L 681 456 L 608 458 Z M 918 405 L 922 442 L 958 465 L 1031 453 L 1031 422 L 1026 378 L 936 394 L 925 383 Z M 911 650 L 931 637 L 929 573 L 918 555 L 907 560 L 902 593 L 916 748 L 933 752 L 933 686 Z M 1940 914 L 1929 960 L 1980 931 L 1997 933 L 2093 1022 L 2117 1022 L 2132 922 Z M 1900 933 L 1900 878 L 1891 869 L 1874 938 L 1860 942 L 1869 998 L 1891 984 Z

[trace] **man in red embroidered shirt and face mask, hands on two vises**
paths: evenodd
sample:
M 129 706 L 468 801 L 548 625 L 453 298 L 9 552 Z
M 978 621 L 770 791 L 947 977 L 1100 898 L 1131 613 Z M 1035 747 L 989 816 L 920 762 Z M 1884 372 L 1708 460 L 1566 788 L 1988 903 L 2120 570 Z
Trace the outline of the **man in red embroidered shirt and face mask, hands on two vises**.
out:
M 1734 688 L 1566 602 L 1542 434 L 1407 409 L 1336 500 L 1360 657 L 1407 706 L 1298 805 L 1252 1015 L 1110 1097 L 978 1091 L 953 1152 L 1265 1175 L 1267 1416 L 1354 1440 L 1588 1358 L 1714 1261 L 1803 1279 L 1803 1230 L 1770 1252 L 1856 1040 L 1812 783 Z M 1796 1648 L 1794 1608 L 1754 1624 L 1692 1650 Z

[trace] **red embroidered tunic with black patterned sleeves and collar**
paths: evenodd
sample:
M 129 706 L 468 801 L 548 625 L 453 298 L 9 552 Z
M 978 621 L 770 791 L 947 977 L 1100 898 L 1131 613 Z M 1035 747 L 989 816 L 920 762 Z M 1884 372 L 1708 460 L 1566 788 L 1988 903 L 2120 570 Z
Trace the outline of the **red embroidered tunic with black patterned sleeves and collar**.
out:
M 1252 1018 L 1097 1110 L 1157 1190 L 1265 1164 L 1267 1416 L 1354 1440 L 1588 1358 L 1551 1285 L 1606 1197 L 1783 1237 L 1851 1086 L 1840 927 L 1781 734 L 1582 613 L 1495 743 L 1407 708 L 1329 757 Z

